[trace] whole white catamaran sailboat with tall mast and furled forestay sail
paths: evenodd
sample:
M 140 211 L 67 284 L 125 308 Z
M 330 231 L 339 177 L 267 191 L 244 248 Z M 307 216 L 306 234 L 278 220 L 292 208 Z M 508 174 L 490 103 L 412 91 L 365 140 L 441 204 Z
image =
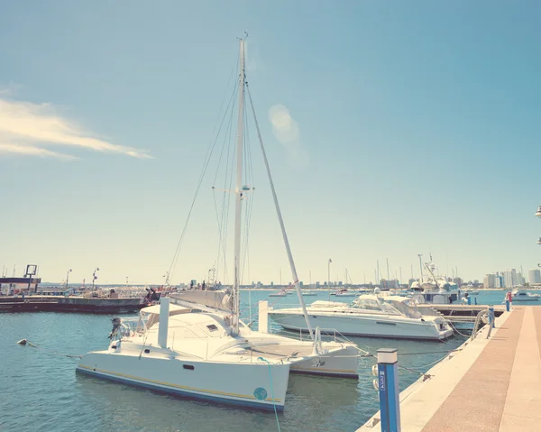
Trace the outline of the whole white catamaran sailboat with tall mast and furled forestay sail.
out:
M 245 89 L 253 111 L 243 47 L 244 40 L 240 40 L 236 182 L 234 191 L 230 191 L 235 201 L 233 290 L 171 294 L 170 298 L 161 299 L 159 309 L 142 309 L 140 321 L 134 327 L 115 318 L 108 349 L 85 354 L 77 369 L 188 397 L 283 409 L 289 372 L 357 378 L 358 350 L 349 342 L 321 342 L 319 328 L 313 329 L 310 323 L 255 112 L 263 161 L 310 340 L 270 335 L 262 322 L 261 330 L 255 332 L 240 317 L 242 205 L 252 189 L 243 181 Z

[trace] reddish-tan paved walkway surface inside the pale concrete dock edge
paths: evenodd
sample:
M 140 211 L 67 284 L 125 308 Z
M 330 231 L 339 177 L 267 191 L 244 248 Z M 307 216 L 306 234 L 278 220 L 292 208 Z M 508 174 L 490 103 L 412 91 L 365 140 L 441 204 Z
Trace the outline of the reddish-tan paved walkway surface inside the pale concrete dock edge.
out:
M 540 346 L 541 308 L 514 308 L 423 432 L 540 431 Z

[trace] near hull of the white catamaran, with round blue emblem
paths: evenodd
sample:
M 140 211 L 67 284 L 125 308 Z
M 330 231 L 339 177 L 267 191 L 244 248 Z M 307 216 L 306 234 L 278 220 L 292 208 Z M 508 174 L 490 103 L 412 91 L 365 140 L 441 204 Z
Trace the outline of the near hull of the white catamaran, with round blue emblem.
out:
M 283 409 L 289 363 L 212 363 L 111 354 L 84 355 L 78 372 L 188 398 Z

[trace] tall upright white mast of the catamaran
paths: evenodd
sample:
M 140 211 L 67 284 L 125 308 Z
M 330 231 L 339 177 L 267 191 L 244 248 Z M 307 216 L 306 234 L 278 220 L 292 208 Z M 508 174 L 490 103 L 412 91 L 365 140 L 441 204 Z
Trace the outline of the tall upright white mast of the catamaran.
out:
M 239 41 L 239 120 L 236 146 L 236 182 L 234 186 L 234 331 L 239 332 L 241 308 L 241 212 L 243 202 L 243 128 L 244 128 L 244 40 Z

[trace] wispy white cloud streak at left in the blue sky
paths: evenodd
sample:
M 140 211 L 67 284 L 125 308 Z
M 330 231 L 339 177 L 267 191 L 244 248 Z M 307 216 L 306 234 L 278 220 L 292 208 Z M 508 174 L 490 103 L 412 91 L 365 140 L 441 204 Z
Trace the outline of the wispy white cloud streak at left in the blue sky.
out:
M 146 151 L 115 145 L 90 136 L 90 133 L 84 131 L 78 124 L 58 115 L 50 104 L 33 104 L 0 98 L 0 148 L 2 152 L 56 157 L 66 161 L 78 159 L 44 148 L 51 145 L 151 159 L 151 155 Z

